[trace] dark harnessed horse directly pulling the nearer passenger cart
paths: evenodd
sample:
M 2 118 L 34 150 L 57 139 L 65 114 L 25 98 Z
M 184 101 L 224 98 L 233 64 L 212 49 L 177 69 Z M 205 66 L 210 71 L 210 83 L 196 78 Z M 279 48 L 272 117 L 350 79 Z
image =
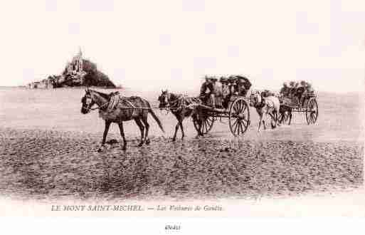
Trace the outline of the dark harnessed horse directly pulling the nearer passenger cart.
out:
M 181 128 L 181 140 L 184 139 L 184 127 L 182 122 L 186 117 L 193 117 L 193 120 L 197 120 L 199 125 L 199 133 L 198 135 L 203 135 L 201 133 L 201 121 L 199 121 L 199 108 L 197 104 L 201 103 L 199 98 L 186 97 L 184 95 L 176 95 L 174 93 L 169 93 L 167 90 L 162 90 L 161 95 L 159 95 L 159 108 L 160 109 L 169 109 L 171 113 L 176 117 L 177 124 L 175 127 L 174 137 L 172 137 L 172 141 L 176 140 L 176 133 Z

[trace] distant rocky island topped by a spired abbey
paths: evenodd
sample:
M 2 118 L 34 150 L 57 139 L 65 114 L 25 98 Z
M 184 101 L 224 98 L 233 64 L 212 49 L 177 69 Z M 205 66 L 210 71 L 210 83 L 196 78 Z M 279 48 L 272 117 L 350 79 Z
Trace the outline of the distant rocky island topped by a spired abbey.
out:
M 29 88 L 62 88 L 75 86 L 97 86 L 115 88 L 115 84 L 105 73 L 97 70 L 95 63 L 83 58 L 81 50 L 67 63 L 61 75 L 51 75 L 47 79 L 28 84 Z

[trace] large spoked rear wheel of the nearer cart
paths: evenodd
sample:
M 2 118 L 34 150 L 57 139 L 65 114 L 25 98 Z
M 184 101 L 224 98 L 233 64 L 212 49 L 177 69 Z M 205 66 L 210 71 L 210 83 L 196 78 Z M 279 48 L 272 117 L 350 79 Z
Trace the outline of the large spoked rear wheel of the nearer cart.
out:
M 250 125 L 250 109 L 243 98 L 233 101 L 229 109 L 229 127 L 234 136 L 243 135 Z

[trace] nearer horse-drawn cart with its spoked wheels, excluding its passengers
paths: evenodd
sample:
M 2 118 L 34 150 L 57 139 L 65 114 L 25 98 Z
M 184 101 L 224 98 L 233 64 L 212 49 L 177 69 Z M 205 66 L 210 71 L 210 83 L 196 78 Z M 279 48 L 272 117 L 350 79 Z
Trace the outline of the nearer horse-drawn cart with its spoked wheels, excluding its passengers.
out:
M 234 136 L 243 135 L 250 125 L 250 109 L 248 98 L 243 96 L 231 96 L 228 108 L 211 108 L 208 105 L 200 104 L 198 107 L 202 114 L 201 132 L 208 133 L 218 118 L 228 118 L 230 130 Z M 198 120 L 194 120 L 194 127 L 199 132 Z

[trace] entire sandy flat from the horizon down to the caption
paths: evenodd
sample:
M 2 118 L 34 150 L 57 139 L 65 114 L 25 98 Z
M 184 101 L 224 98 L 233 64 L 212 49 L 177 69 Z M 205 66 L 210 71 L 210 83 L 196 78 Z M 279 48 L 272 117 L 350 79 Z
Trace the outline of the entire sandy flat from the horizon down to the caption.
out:
M 97 89 L 102 91 L 101 89 Z M 111 92 L 111 90 L 105 90 Z M 176 120 L 155 110 L 151 144 L 137 147 L 139 130 L 125 122 L 127 151 L 117 125 L 100 147 L 104 122 L 80 113 L 83 89 L 0 90 L 0 194 L 20 200 L 257 199 L 358 190 L 364 184 L 364 97 L 319 93 L 319 119 L 307 125 L 295 114 L 290 126 L 256 132 L 258 116 L 234 138 L 219 120 L 196 138 L 171 142 Z M 158 93 L 141 95 L 157 106 Z

